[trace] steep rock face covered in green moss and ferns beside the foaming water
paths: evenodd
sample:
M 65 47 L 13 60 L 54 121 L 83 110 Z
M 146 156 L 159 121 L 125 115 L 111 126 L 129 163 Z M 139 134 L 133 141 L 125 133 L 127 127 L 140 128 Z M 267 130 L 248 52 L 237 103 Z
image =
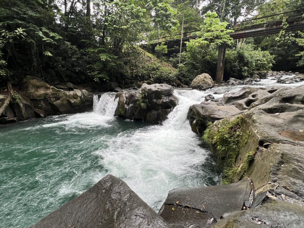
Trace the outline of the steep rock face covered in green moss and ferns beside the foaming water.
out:
M 250 113 L 226 118 L 210 124 L 204 131 L 202 140 L 209 143 L 218 158 L 218 166 L 223 170 L 223 184 L 241 179 L 254 160 L 258 140 L 251 132 L 250 119 Z

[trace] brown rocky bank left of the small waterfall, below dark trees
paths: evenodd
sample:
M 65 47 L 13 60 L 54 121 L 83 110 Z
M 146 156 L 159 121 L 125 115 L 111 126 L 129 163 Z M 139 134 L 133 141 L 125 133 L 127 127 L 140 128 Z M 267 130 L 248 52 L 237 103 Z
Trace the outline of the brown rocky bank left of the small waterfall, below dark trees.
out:
M 58 89 L 39 78 L 27 76 L 17 88 L 18 92 L 0 95 L 0 123 L 15 123 L 30 118 L 91 111 L 93 94 L 86 90 L 70 87 Z

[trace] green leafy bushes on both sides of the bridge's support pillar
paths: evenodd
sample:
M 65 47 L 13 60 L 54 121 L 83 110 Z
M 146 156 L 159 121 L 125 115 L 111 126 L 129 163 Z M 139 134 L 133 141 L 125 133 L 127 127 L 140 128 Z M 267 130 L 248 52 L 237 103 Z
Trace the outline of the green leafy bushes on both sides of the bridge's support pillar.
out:
M 202 72 L 215 78 L 217 64 L 217 48 L 196 47 L 181 54 L 181 64 L 178 65 L 178 54 L 171 57 L 171 63 L 177 67 L 177 78 L 187 84 Z M 225 58 L 224 79 L 250 77 L 253 71 L 270 70 L 274 56 L 268 51 L 254 50 L 251 45 L 244 44 L 242 48 L 227 49 Z

